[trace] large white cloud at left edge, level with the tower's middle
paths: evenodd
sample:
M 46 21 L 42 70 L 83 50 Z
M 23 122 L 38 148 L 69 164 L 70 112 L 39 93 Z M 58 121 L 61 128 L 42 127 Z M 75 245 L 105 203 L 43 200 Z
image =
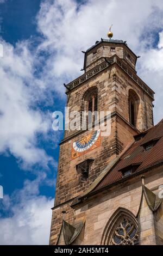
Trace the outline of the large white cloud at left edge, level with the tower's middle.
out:
M 39 84 L 34 77 L 34 58 L 27 42 L 14 48 L 2 41 L 4 57 L 0 62 L 0 151 L 9 150 L 23 162 L 46 165 L 51 160 L 45 150 L 37 148 L 36 133 L 46 133 L 51 127 L 47 117 L 33 102 Z

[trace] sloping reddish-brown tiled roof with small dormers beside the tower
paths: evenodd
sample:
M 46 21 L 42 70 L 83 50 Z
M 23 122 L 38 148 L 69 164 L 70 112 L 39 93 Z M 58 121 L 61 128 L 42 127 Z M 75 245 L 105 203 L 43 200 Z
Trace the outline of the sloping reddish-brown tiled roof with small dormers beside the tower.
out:
M 138 137 L 141 137 L 141 139 L 137 140 Z M 159 140 L 151 149 L 145 150 L 143 144 L 154 139 Z M 121 180 L 122 172 L 120 170 L 127 168 L 131 164 L 140 163 L 139 167 L 135 170 L 137 173 L 161 162 L 163 162 L 163 119 L 151 129 L 135 136 L 135 142 L 121 156 L 116 166 L 99 182 L 94 191 Z

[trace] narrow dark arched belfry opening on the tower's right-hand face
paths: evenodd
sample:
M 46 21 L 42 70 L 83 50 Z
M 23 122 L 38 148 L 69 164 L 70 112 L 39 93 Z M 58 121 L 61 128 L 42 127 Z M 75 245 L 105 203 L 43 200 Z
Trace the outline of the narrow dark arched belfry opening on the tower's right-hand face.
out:
M 139 111 L 139 97 L 134 90 L 129 90 L 129 121 L 130 124 L 136 127 L 137 114 Z

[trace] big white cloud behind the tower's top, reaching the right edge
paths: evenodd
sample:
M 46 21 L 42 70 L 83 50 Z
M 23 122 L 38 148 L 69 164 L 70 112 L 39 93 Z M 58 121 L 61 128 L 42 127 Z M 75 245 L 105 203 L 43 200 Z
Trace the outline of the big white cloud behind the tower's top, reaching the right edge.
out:
M 81 51 L 95 44 L 101 37 L 106 38 L 109 25 L 113 24 L 114 39 L 127 40 L 131 50 L 137 55 L 141 54 L 137 71 L 142 80 L 149 82 L 156 94 L 161 93 L 163 96 L 163 92 L 158 89 L 162 86 L 161 80 L 156 79 L 156 76 L 161 75 L 162 51 L 153 48 L 158 35 L 158 47 L 162 46 L 162 33 L 157 34 L 162 29 L 162 16 L 161 0 L 89 0 L 84 4 L 73 0 L 44 0 L 37 15 L 39 32 L 45 38 L 39 50 L 51 52 L 51 58 L 43 74 L 51 77 L 52 81 L 54 76 L 57 77 L 54 87 L 62 93 L 64 88 L 60 86 L 61 83 L 82 74 L 79 71 L 84 60 Z M 149 63 L 148 58 L 151 59 Z M 154 69 L 155 79 L 149 81 L 146 77 L 151 77 L 151 69 Z M 155 121 L 159 121 L 161 112 L 162 107 L 158 104 Z

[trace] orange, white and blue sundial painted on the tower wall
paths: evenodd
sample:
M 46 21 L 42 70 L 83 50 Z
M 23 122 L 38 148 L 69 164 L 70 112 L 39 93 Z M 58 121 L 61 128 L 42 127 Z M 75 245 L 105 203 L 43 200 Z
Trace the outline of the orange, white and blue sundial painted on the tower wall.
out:
M 72 158 L 84 154 L 84 151 L 97 148 L 101 144 L 101 130 L 93 131 L 90 135 L 73 142 L 72 144 Z

